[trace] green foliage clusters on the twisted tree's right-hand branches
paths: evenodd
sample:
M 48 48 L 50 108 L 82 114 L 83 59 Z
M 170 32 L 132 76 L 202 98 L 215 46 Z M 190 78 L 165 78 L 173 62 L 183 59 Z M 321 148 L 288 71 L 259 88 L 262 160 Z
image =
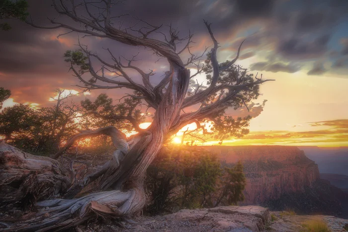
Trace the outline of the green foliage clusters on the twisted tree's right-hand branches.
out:
M 227 107 L 232 107 L 234 110 L 247 106 L 253 99 L 257 99 L 260 95 L 260 87 L 258 84 L 253 84 L 256 80 L 253 77 L 253 74 L 248 74 L 246 69 L 243 69 L 240 66 L 231 65 L 230 67 L 224 69 L 229 65 L 230 61 L 226 61 L 219 64 L 220 75 L 217 81 L 217 84 L 226 85 L 226 86 L 236 86 L 236 85 L 246 85 L 237 94 L 229 96 L 229 100 L 224 103 Z M 205 60 L 205 66 L 203 71 L 207 77 L 207 83 L 210 84 L 212 81 L 213 67 L 210 60 L 210 53 L 207 55 Z M 247 86 L 248 85 L 248 86 Z M 202 89 L 201 89 L 202 90 Z M 198 89 L 198 92 L 200 90 Z M 213 104 L 216 99 L 220 99 L 228 96 L 230 93 L 233 93 L 233 88 L 226 88 L 220 92 L 213 94 L 209 99 L 206 99 L 204 104 L 209 105 Z M 249 123 L 252 117 L 250 115 L 246 117 L 231 117 L 227 116 L 225 113 L 226 108 L 215 111 L 209 115 L 208 119 L 201 120 L 203 123 L 208 121 L 213 121 L 214 124 L 210 128 L 212 133 L 212 138 L 214 140 L 220 140 L 221 143 L 223 140 L 237 137 L 241 138 L 249 134 Z M 248 109 L 249 110 L 249 109 Z

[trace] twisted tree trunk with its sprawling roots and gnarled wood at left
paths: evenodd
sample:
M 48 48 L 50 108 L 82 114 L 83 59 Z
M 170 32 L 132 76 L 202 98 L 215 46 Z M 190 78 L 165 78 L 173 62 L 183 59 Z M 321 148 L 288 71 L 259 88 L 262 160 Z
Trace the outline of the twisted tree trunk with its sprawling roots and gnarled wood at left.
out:
M 61 152 L 53 156 L 58 158 L 77 139 L 100 134 L 110 136 L 116 147 L 112 158 L 99 170 L 84 178 L 82 182 L 71 184 L 68 173 L 63 171 L 54 159 L 24 153 L 20 155 L 19 150 L 2 145 L 6 148 L 5 150 L 12 151 L 14 149 L 15 153 L 12 154 L 16 154 L 15 158 L 18 160 L 19 157 L 21 160 L 8 161 L 9 159 L 6 158 L 8 152 L 2 151 L 0 153 L 3 169 L 0 172 L 0 181 L 2 181 L 0 184 L 19 183 L 18 186 L 21 186 L 21 183 L 26 182 L 28 176 L 33 176 L 32 178 L 36 178 L 40 182 L 40 174 L 37 174 L 39 169 L 43 175 L 47 176 L 45 180 L 50 179 L 51 182 L 56 182 L 57 179 L 65 180 L 62 181 L 58 189 L 50 186 L 49 193 L 59 192 L 65 198 L 72 198 L 84 186 L 100 176 L 102 177 L 99 189 L 103 191 L 88 194 L 78 199 L 53 199 L 38 202 L 36 207 L 43 208 L 43 210 L 36 215 L 37 217 L 11 225 L 4 231 L 59 231 L 79 225 L 96 216 L 104 218 L 129 217 L 135 212 L 139 212 L 144 207 L 146 199 L 144 191 L 146 169 L 161 150 L 165 136 L 179 114 L 188 87 L 189 71 L 176 66 L 172 70 L 171 78 L 170 90 L 167 91 L 159 105 L 154 122 L 148 131 L 137 135 L 128 143 L 124 134 L 112 126 L 95 131 L 86 131 L 74 136 Z M 16 174 L 11 174 L 14 170 L 18 171 Z M 5 181 L 6 176 L 11 176 L 7 182 Z M 40 182 L 39 185 L 43 185 L 43 182 Z M 33 186 L 33 184 L 29 184 L 28 188 Z M 35 194 L 39 195 L 39 192 Z M 55 195 L 46 194 L 44 198 L 52 197 Z

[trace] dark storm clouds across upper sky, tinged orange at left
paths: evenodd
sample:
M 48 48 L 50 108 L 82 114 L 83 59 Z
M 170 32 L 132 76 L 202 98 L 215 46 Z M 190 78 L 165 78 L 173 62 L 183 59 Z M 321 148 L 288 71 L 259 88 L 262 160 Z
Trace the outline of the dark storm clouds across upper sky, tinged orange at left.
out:
M 53 18 L 57 15 L 51 7 L 51 0 L 28 2 L 35 23 L 50 25 L 46 16 Z M 192 51 L 197 53 L 205 45 L 212 44 L 203 23 L 205 19 L 212 23 L 212 30 L 221 46 L 220 51 L 226 49 L 233 54 L 246 38 L 242 46 L 245 52 L 241 54 L 240 60 L 258 54 L 261 48 L 272 49 L 276 58 L 266 63 L 256 63 L 253 69 L 294 73 L 300 70 L 294 61 L 305 62 L 306 59 L 318 59 L 326 54 L 332 28 L 347 16 L 347 3 L 347 0 L 318 0 L 314 4 L 310 0 L 128 0 L 125 4 L 117 5 L 114 13 L 131 12 L 155 25 L 164 24 L 165 33 L 168 32 L 166 24 L 172 22 L 173 27 L 180 30 L 181 37 L 186 36 L 188 29 L 191 29 L 196 42 Z M 125 27 L 135 19 L 127 16 L 121 20 Z M 72 20 L 66 22 L 73 23 Z M 0 31 L 2 86 L 13 89 L 13 92 L 17 91 L 23 98 L 38 102 L 50 96 L 55 87 L 69 89 L 73 88 L 71 85 L 79 83 L 68 73 L 67 64 L 62 57 L 66 50 L 76 49 L 72 46 L 77 43 L 76 34 L 57 40 L 55 36 L 65 31 L 36 29 L 20 22 L 11 24 L 12 31 Z M 245 33 L 255 25 L 261 27 L 257 33 Z M 154 36 L 162 38 L 161 34 Z M 136 64 L 144 70 L 156 70 L 157 74 L 152 78 L 154 83 L 160 82 L 161 75 L 168 70 L 168 63 L 164 59 L 155 63 L 158 57 L 143 48 L 124 46 L 109 39 L 90 38 L 83 42 L 88 45 L 88 49 L 96 51 L 108 61 L 110 57 L 102 48 L 110 48 L 116 56 L 123 55 L 127 58 L 140 51 L 141 60 Z M 340 53 L 348 54 L 348 44 L 343 45 Z M 282 63 L 284 59 L 287 65 Z

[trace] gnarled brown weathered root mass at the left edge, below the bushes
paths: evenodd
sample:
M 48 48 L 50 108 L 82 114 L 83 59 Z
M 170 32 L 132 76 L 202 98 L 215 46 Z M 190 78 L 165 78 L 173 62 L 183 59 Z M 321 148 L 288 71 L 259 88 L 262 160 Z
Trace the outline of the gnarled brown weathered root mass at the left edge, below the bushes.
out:
M 68 172 L 57 160 L 24 153 L 0 144 L 0 186 L 18 189 L 16 199 L 46 200 L 64 193 L 71 185 Z

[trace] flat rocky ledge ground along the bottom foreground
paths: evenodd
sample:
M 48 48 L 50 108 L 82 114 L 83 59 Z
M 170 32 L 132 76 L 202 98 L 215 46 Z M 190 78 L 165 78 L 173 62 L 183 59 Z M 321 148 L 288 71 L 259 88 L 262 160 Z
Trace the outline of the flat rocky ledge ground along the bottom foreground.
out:
M 138 217 L 137 224 L 87 224 L 77 232 L 308 232 L 304 225 L 323 221 L 331 232 L 345 232 L 348 220 L 332 216 L 299 216 L 270 212 L 260 206 L 229 206 L 212 209 L 180 210 L 177 213 Z M 120 229 L 120 226 L 122 229 Z

